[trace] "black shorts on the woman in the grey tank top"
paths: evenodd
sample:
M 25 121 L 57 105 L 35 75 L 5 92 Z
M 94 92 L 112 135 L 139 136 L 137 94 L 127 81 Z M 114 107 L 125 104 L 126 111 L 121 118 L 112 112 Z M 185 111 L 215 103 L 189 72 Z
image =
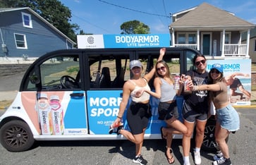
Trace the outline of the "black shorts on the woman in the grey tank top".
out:
M 178 108 L 176 102 L 159 102 L 158 104 L 158 119 L 161 121 L 169 120 L 173 116 L 178 118 Z

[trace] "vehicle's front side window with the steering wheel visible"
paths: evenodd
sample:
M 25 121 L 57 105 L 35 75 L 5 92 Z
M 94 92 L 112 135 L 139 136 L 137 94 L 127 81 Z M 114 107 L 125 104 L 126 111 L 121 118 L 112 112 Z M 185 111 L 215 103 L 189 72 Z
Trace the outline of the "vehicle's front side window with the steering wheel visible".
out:
M 80 88 L 78 56 L 56 56 L 40 65 L 42 90 Z

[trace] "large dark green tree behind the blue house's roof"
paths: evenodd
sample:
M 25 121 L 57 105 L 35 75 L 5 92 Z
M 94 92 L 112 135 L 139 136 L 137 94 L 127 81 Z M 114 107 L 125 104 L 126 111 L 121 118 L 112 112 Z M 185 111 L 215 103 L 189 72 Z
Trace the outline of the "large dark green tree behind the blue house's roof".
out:
M 80 27 L 69 23 L 72 17 L 71 10 L 58 0 L 0 0 L 0 7 L 30 7 L 63 34 L 76 41 L 75 31 Z

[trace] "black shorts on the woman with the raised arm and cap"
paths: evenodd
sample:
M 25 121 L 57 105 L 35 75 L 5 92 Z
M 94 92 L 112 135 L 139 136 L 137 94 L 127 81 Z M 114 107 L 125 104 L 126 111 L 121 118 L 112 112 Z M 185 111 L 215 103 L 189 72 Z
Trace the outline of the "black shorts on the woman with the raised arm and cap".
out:
M 127 111 L 127 122 L 130 132 L 133 135 L 143 133 L 143 129 L 147 128 L 149 121 L 148 109 L 149 104 L 131 102 Z

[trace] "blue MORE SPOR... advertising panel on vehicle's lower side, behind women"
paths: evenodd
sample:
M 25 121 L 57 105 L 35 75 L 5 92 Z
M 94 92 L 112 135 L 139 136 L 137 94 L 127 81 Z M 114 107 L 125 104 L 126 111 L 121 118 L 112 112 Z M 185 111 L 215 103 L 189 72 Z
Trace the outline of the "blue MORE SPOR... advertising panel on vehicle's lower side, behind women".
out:
M 87 92 L 90 134 L 109 134 L 109 127 L 116 120 L 116 116 L 118 115 L 122 92 L 122 90 L 91 90 Z M 158 99 L 151 97 L 150 105 L 152 106 L 152 117 L 149 120 L 146 134 L 159 134 L 161 126 L 166 126 L 164 121 L 158 120 L 158 102 Z M 130 130 L 126 122 L 126 111 L 123 114 L 123 123 L 124 128 Z

